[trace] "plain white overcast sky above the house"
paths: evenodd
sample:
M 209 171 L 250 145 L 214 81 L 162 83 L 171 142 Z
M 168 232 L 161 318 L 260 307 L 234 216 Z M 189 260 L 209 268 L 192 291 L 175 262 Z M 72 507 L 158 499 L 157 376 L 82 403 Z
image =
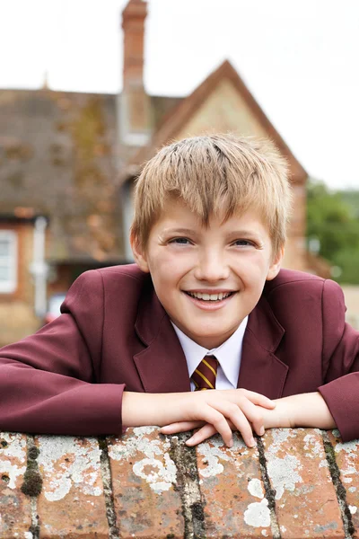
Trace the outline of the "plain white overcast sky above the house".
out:
M 0 88 L 116 93 L 127 0 L 0 0 Z M 293 154 L 359 189 L 357 0 L 149 0 L 148 93 L 187 95 L 225 58 Z

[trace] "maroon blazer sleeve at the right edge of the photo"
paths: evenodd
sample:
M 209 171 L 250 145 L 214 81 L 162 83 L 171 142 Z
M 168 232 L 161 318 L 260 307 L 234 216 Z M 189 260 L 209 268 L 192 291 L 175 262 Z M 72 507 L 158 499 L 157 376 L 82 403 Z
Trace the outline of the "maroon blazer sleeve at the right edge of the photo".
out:
M 344 441 L 359 438 L 359 332 L 345 322 L 342 289 L 325 281 L 322 296 L 323 379 L 319 391 Z

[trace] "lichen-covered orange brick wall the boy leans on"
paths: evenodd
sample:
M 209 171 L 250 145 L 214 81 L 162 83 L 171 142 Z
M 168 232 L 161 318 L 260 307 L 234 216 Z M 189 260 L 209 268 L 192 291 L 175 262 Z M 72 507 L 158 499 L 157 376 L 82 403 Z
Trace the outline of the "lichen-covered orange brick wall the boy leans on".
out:
M 0 433 L 0 537 L 356 537 L 359 440 L 319 429 L 269 430 L 253 449 L 187 438 Z

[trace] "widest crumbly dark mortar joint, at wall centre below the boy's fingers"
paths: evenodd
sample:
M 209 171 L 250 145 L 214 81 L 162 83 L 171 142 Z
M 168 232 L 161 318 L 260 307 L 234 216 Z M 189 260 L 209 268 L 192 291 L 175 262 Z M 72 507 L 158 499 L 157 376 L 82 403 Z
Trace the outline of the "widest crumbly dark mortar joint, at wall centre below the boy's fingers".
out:
M 188 433 L 170 437 L 170 456 L 177 469 L 177 489 L 180 491 L 184 518 L 184 539 L 206 539 L 205 514 L 199 488 L 196 447 L 185 445 Z

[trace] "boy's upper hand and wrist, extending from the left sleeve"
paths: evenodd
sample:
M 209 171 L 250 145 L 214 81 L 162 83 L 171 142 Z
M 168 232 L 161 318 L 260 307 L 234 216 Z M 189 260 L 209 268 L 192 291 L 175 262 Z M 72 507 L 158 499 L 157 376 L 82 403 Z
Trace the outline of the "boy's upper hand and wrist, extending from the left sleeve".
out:
M 201 425 L 208 423 L 230 447 L 233 444 L 231 423 L 234 429 L 241 432 L 247 446 L 254 446 L 252 429 L 261 436 L 264 433 L 263 411 L 275 406 L 264 395 L 245 389 L 159 394 L 125 392 L 122 420 L 128 427 L 167 425 L 170 430 L 166 430 L 166 433 L 173 432 L 173 424 L 186 422 L 188 425 L 194 424 L 193 421 L 196 421 L 196 425 L 197 421 Z

